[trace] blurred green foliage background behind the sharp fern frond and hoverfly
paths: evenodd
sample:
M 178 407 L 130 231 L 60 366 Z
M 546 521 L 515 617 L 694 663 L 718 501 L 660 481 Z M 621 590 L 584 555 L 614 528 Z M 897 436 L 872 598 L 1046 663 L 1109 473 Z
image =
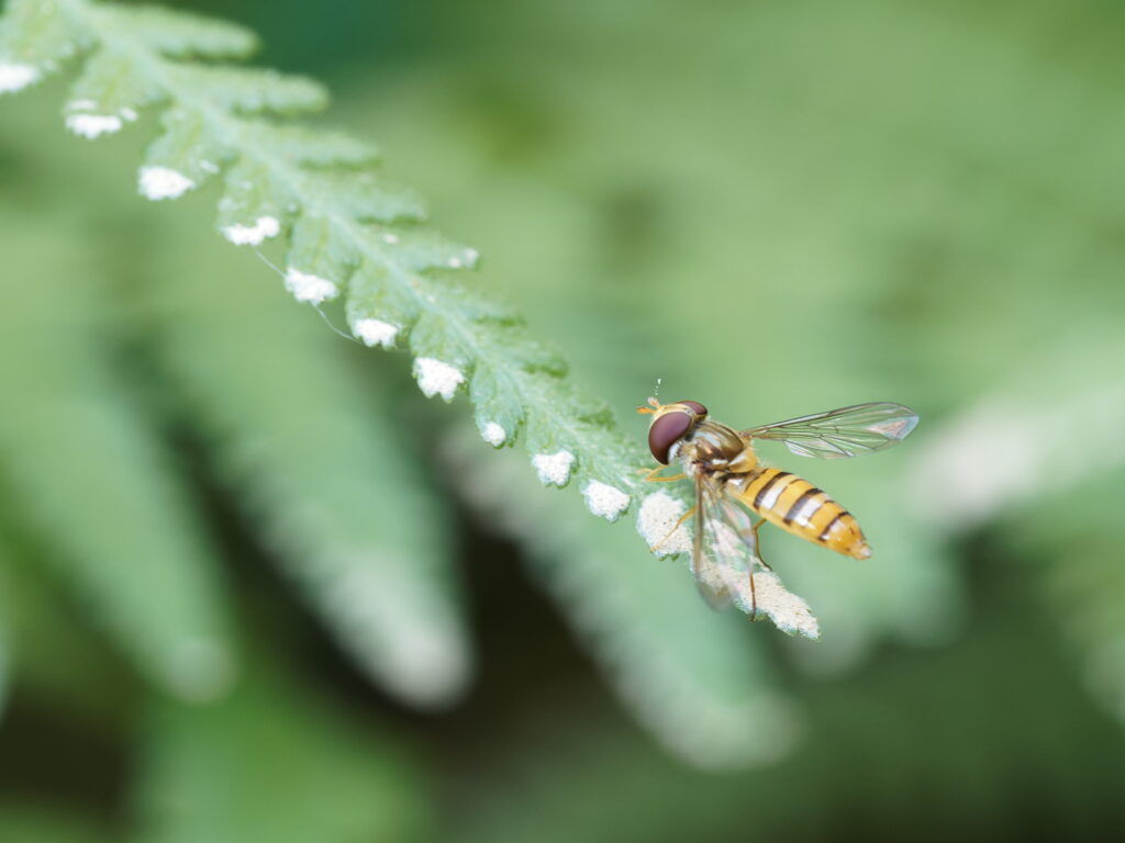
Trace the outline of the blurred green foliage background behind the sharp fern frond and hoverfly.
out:
M 328 82 L 618 410 L 865 400 L 767 454 L 870 562 L 764 533 L 819 642 L 538 488 L 210 232 L 142 120 L 0 100 L 0 840 L 1125 833 L 1125 10 L 176 3 Z M 560 408 L 566 411 L 566 408 Z

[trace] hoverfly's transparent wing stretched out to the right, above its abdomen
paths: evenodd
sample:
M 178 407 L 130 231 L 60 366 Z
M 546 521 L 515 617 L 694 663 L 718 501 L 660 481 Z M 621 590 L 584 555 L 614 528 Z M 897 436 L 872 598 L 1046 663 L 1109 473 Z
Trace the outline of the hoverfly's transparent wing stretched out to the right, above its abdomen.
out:
M 901 404 L 856 404 L 838 410 L 752 427 L 739 436 L 784 442 L 794 454 L 839 460 L 881 451 L 904 439 L 918 414 Z

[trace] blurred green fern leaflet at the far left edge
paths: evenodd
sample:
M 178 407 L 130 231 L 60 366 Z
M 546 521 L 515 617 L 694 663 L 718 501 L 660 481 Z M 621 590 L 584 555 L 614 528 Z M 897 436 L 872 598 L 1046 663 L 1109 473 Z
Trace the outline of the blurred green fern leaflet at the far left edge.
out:
M 50 263 L 36 283 L 8 284 L 0 311 L 0 393 L 10 397 L 0 472 L 11 504 L 152 681 L 183 697 L 216 694 L 234 655 L 215 553 L 151 420 L 107 360 L 90 250 L 14 226 L 10 217 L 8 259 Z

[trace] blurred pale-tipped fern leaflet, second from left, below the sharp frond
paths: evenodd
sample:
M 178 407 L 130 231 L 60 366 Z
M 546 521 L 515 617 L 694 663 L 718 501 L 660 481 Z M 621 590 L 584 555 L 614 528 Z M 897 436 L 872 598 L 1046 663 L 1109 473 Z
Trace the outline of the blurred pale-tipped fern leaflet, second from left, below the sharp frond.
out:
M 148 292 L 160 356 L 218 473 L 358 667 L 414 705 L 448 704 L 471 673 L 450 515 L 394 414 L 377 409 L 396 402 L 372 398 L 380 388 L 352 373 L 351 348 L 280 289 L 232 289 L 238 270 L 210 260 L 217 245 L 184 245 L 162 243 L 150 274 L 191 261 L 198 282 Z

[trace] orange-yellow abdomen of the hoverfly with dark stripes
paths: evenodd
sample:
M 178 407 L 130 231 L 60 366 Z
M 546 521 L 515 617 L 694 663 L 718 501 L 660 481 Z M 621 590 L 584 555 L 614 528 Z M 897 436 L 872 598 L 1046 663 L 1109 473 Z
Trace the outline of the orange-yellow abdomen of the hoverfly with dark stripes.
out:
M 793 535 L 837 553 L 867 559 L 871 549 L 855 518 L 808 480 L 780 469 L 749 474 L 738 498 L 755 513 Z

